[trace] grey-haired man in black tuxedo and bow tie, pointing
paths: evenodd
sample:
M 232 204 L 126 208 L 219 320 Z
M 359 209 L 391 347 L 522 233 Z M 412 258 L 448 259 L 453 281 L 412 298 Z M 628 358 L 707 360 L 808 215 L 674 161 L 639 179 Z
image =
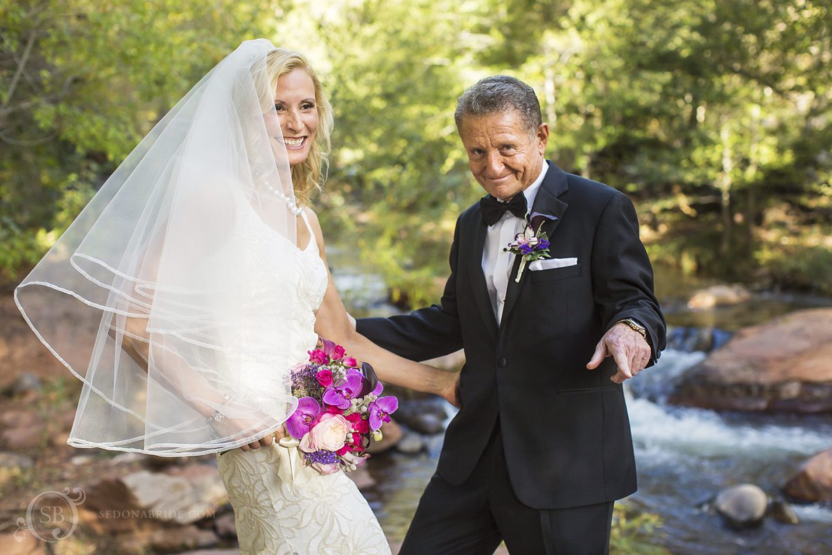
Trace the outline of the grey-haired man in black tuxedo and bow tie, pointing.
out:
M 400 553 L 602 555 L 613 502 L 636 491 L 622 382 L 665 347 L 636 212 L 545 160 L 525 83 L 483 79 L 455 119 L 488 196 L 458 218 L 441 305 L 358 322 L 409 359 L 465 349 L 462 409 Z M 551 241 L 532 262 L 503 251 L 528 215 Z

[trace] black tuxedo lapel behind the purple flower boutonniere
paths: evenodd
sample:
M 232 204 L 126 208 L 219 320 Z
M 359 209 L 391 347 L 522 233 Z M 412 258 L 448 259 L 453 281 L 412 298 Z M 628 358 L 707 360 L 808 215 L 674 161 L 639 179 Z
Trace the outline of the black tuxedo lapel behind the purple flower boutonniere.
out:
M 548 161 L 547 161 L 548 163 Z M 559 167 L 549 163 L 549 169 L 546 172 L 546 177 L 537 190 L 537 196 L 534 199 L 534 206 L 530 211 L 532 214 L 539 212 L 547 216 L 554 216 L 554 220 L 548 220 L 542 225 L 542 229 L 546 231 L 550 241 L 554 241 L 554 231 L 557 225 L 560 224 L 563 214 L 567 211 L 567 203 L 557 198 L 569 190 L 567 186 L 567 174 Z M 500 328 L 498 333 L 503 333 L 508 315 L 511 314 L 514 304 L 517 302 L 523 285 L 528 281 L 528 264 L 523 268 L 520 276 L 520 283 L 515 282 L 520 269 L 521 257 L 514 256 L 514 264 L 512 265 L 512 273 L 508 279 L 508 288 L 506 289 L 506 305 L 503 307 L 503 316 L 500 318 Z

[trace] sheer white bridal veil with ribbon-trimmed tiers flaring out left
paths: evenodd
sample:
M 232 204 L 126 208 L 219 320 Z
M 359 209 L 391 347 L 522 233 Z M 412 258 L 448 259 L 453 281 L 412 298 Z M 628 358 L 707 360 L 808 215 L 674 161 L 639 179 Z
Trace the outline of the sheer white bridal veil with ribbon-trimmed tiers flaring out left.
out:
M 83 382 L 67 444 L 215 453 L 294 412 L 301 253 L 273 50 L 245 41 L 211 69 L 17 286 L 28 325 Z

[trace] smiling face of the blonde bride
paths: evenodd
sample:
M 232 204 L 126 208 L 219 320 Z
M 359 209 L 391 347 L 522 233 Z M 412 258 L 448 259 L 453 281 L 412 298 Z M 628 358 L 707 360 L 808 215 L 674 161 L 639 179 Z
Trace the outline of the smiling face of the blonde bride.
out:
M 277 121 L 270 117 L 272 114 Z M 278 78 L 275 111 L 266 116 L 266 128 L 275 141 L 282 138 L 290 166 L 306 161 L 318 130 L 318 105 L 312 77 L 302 67 Z

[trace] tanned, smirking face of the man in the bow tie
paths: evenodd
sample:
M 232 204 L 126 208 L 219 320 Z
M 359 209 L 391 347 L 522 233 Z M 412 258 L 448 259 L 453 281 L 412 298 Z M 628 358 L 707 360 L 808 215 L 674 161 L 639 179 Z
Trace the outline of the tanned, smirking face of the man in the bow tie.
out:
M 474 179 L 492 196 L 508 201 L 540 175 L 549 127 L 542 123 L 530 132 L 520 114 L 509 110 L 463 116 L 459 136 Z

